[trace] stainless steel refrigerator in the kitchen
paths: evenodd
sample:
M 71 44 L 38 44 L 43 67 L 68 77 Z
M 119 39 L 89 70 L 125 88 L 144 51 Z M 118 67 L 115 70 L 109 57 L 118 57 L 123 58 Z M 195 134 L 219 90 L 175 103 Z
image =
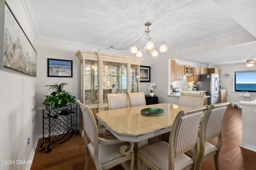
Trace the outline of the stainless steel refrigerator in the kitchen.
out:
M 219 103 L 219 74 L 200 75 L 200 82 L 196 82 L 198 90 L 206 90 L 208 104 Z

